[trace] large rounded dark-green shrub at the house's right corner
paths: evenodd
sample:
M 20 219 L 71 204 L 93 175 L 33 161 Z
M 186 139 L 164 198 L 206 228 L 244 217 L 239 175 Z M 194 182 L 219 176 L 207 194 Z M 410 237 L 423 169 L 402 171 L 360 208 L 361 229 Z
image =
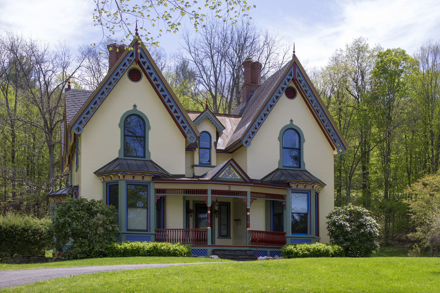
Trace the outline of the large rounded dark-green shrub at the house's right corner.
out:
M 330 243 L 345 249 L 345 256 L 367 257 L 378 251 L 374 241 L 379 236 L 379 224 L 365 208 L 348 204 L 334 208 L 326 217 Z

